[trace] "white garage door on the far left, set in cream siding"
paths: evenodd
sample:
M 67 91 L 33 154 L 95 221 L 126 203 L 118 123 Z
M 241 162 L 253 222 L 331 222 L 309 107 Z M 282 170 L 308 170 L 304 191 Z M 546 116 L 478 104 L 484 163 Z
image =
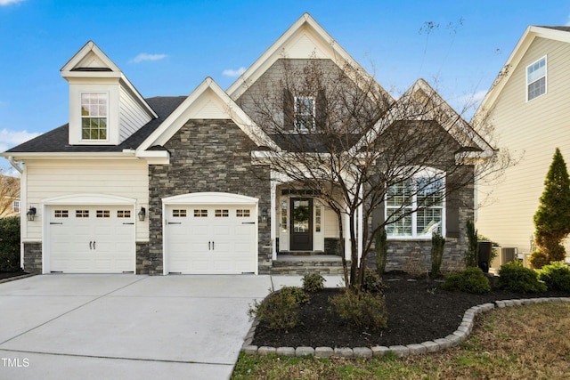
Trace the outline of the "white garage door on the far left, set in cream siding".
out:
M 49 206 L 50 271 L 134 271 L 132 206 Z

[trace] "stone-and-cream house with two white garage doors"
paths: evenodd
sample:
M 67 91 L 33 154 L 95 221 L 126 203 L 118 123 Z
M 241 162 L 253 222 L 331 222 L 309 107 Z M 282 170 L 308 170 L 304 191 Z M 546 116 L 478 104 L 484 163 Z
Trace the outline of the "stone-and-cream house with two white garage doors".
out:
M 69 82 L 69 124 L 3 154 L 21 170 L 22 206 L 35 212 L 21 226 L 25 269 L 257 274 L 283 267 L 289 272 L 286 258 L 314 253 L 328 254 L 327 260 L 308 256 L 306 260 L 317 261 L 309 266 L 339 265 L 338 214 L 319 191 L 278 180 L 275 167 L 265 161 L 272 152 L 300 157 L 304 150 L 288 150 L 255 109 L 257 101 L 266 100 L 261 90 L 270 87 L 267 80 L 281 81 L 287 74 L 284 65 L 306 69 L 315 61 L 330 72 L 344 73 L 350 66 L 345 77 L 354 83 L 370 78 L 306 13 L 226 91 L 207 77 L 189 96 L 145 99 L 96 44 L 85 44 L 61 69 Z M 277 91 L 282 109 L 268 117 L 294 121 L 281 137 L 295 140 L 310 133 L 322 94 Z M 492 151 L 425 81 L 408 93 L 414 99 L 427 94 L 441 112 L 405 125 L 410 133 L 416 126 L 418 131 L 436 128 L 444 134 L 442 141 L 450 141 L 445 156 L 453 162 Z M 385 118 L 398 125 L 397 108 L 393 110 Z M 345 150 L 379 134 L 376 125 L 361 132 L 360 140 L 347 140 L 352 145 Z M 313 148 L 306 154 L 314 154 Z M 472 166 L 466 167 L 472 177 Z M 399 183 L 392 194 L 405 198 L 417 183 Z M 426 190 L 424 201 L 444 194 L 439 187 L 444 180 L 437 183 L 436 190 Z M 428 252 L 435 226 L 449 238 L 449 265 L 460 265 L 466 245 L 462 226 L 474 213 L 473 189 L 467 186 L 453 199 L 439 198 L 427 211 L 395 221 L 388 233 L 394 256 L 388 269 L 405 269 L 410 250 Z M 383 206 L 373 222 L 386 221 L 390 207 L 398 211 Z M 347 248 L 348 223 L 344 215 L 340 225 Z M 370 225 L 362 217 L 354 222 L 359 255 L 362 232 Z

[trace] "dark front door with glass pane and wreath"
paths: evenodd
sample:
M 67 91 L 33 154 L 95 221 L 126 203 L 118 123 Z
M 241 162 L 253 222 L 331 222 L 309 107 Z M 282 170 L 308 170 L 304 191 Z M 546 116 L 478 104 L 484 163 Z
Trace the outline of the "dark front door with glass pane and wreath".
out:
M 313 250 L 313 198 L 291 198 L 291 251 Z

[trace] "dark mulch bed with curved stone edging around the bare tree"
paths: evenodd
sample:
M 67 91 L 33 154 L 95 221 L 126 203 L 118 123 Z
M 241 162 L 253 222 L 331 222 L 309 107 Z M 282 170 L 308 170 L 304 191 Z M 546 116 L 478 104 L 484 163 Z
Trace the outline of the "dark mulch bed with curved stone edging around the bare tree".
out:
M 410 280 L 403 274 L 387 274 L 385 291 L 387 328 L 372 332 L 352 327 L 329 311 L 329 297 L 338 289 L 327 288 L 311 295 L 311 301 L 299 311 L 301 325 L 289 331 L 269 329 L 264 322 L 256 327 L 253 340 L 257 346 L 272 347 L 371 347 L 375 345 L 406 345 L 442 338 L 460 326 L 463 314 L 470 307 L 499 300 L 568 297 L 564 292 L 515 294 L 493 287 L 485 295 L 450 292 L 442 282 Z M 493 278 L 491 279 L 493 284 Z M 325 284 L 326 285 L 326 284 Z

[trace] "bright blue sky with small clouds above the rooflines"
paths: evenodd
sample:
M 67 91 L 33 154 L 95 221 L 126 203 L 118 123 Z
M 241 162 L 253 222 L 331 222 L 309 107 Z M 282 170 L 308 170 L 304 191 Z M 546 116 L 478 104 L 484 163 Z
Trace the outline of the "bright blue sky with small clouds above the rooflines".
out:
M 528 25 L 569 25 L 570 1 L 0 0 L 0 151 L 67 123 L 60 69 L 89 40 L 143 96 L 187 95 L 229 87 L 304 12 L 395 96 L 423 77 L 460 110 Z

